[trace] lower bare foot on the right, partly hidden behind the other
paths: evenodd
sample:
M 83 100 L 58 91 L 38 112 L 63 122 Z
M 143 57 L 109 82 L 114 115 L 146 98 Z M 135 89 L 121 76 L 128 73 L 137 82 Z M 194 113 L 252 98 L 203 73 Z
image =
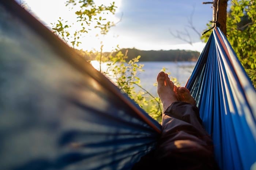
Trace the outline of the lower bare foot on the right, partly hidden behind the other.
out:
M 177 88 L 177 99 L 181 102 L 186 102 L 189 104 L 192 104 L 196 106 L 196 101 L 195 99 L 190 95 L 190 92 L 187 88 L 185 87 L 178 87 Z

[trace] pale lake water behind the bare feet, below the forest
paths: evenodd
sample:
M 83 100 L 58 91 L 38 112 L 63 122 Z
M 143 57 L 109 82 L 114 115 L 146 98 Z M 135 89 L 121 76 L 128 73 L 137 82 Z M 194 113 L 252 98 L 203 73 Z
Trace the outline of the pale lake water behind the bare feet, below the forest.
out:
M 157 95 L 157 87 L 153 86 L 157 82 L 157 74 L 166 68 L 166 72 L 170 76 L 178 79 L 181 86 L 185 86 L 189 76 L 191 75 L 196 62 L 139 62 L 144 64 L 143 70 L 138 77 L 140 78 L 141 85 L 153 95 Z

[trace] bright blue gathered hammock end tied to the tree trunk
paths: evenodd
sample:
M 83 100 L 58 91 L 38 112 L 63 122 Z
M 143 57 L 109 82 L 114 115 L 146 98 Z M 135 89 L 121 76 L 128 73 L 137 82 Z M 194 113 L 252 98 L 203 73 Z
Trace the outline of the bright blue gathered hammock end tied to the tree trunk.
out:
M 187 88 L 225 170 L 256 169 L 256 92 L 226 37 L 215 28 Z

